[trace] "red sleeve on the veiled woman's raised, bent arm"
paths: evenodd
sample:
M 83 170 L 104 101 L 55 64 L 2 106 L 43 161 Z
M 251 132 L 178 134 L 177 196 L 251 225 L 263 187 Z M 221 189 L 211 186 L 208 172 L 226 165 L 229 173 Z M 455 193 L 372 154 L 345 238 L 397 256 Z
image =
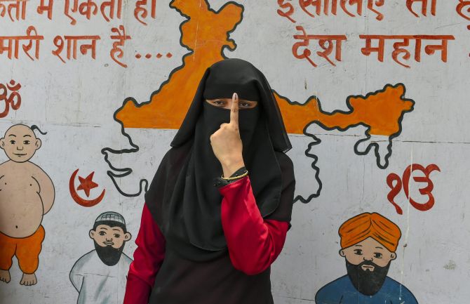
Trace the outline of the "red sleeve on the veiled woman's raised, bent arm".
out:
M 224 197 L 222 227 L 231 263 L 247 275 L 263 272 L 281 253 L 288 222 L 262 218 L 248 176 L 219 191 Z

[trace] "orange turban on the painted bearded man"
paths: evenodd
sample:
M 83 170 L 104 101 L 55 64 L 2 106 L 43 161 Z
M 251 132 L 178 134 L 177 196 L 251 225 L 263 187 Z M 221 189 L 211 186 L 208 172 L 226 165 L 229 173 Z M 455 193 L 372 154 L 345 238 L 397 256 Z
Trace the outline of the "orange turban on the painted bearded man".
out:
M 339 234 L 342 249 L 372 237 L 391 252 L 396 251 L 401 237 L 400 228 L 379 213 L 361 213 L 349 218 L 341 225 Z

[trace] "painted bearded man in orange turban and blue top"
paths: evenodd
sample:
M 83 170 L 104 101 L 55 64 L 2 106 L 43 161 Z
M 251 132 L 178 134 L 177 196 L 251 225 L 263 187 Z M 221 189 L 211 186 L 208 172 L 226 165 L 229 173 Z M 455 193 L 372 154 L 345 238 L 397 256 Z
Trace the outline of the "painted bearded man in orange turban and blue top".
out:
M 361 213 L 344 222 L 339 234 L 347 275 L 323 286 L 316 304 L 417 304 L 411 291 L 387 277 L 401 237 L 397 225 L 379 213 Z

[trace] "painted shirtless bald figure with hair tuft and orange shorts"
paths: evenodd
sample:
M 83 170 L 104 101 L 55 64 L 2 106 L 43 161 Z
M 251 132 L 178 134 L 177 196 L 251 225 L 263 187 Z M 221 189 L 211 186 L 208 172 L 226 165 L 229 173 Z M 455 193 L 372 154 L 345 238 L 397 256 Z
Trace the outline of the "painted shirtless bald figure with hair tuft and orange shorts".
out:
M 20 284 L 37 283 L 39 253 L 44 239 L 43 215 L 54 203 L 51 178 L 29 159 L 41 147 L 33 129 L 15 124 L 0 147 L 10 159 L 0 164 L 0 281 L 10 282 L 13 256 L 23 272 Z

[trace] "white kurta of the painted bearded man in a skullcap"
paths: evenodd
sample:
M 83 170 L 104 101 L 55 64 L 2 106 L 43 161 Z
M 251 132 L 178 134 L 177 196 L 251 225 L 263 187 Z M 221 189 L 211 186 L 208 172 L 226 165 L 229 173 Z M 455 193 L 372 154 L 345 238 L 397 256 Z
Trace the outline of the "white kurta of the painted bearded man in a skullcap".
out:
M 102 263 L 95 250 L 79 258 L 70 271 L 70 281 L 79 291 L 77 304 L 122 304 L 132 260 L 122 253 L 114 266 Z

